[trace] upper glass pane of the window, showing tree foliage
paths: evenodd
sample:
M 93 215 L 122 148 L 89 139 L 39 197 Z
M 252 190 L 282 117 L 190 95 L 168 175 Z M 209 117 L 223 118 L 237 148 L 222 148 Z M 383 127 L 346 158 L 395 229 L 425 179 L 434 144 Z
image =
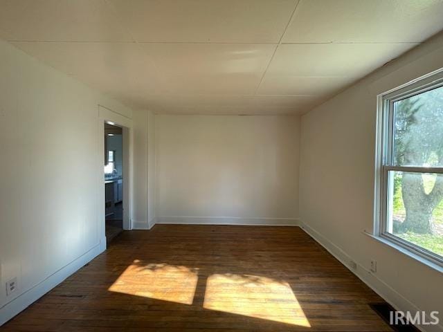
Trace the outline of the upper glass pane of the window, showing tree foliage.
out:
M 394 163 L 443 166 L 443 86 L 394 103 Z

